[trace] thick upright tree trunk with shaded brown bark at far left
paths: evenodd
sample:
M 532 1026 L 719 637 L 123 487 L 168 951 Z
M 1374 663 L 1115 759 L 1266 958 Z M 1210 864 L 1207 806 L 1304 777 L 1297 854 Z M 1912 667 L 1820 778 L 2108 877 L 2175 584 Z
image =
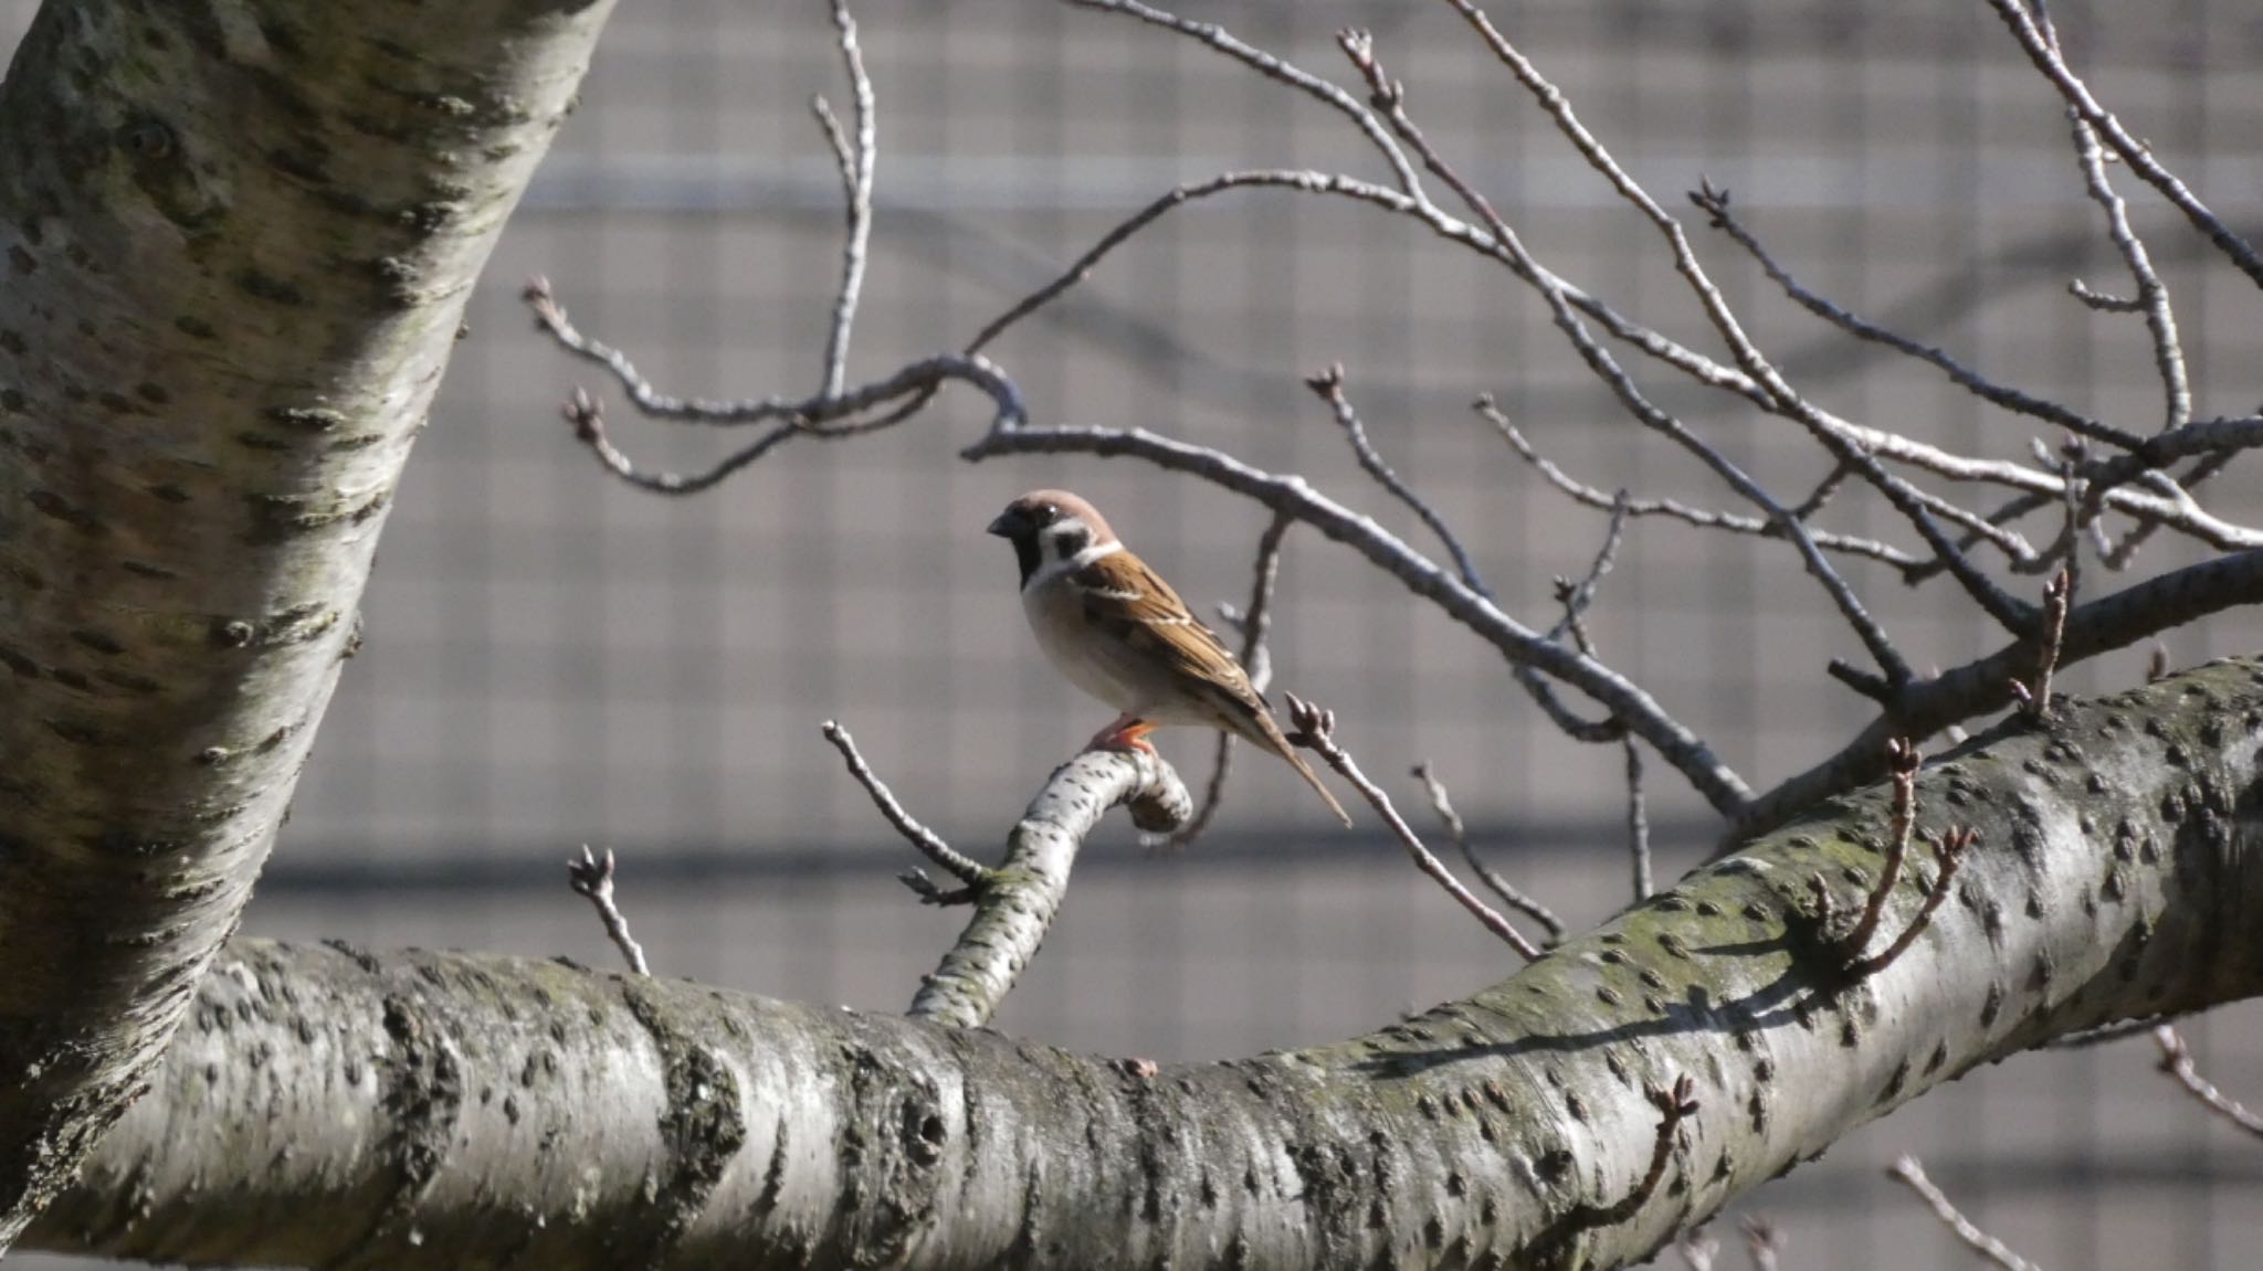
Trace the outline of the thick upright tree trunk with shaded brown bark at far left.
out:
M 0 1251 L 308 758 L 609 0 L 45 5 L 0 88 Z

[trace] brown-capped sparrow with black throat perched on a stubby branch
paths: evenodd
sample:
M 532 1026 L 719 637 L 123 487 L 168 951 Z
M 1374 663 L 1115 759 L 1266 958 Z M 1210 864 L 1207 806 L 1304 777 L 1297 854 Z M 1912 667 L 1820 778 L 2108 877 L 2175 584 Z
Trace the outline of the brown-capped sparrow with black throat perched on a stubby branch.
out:
M 1068 683 L 1122 715 L 1089 749 L 1141 749 L 1147 733 L 1206 724 L 1281 755 L 1344 825 L 1344 805 L 1319 785 L 1233 651 L 1132 554 L 1093 504 L 1068 491 L 1030 491 L 989 531 L 1014 545 L 1021 611 L 1039 649 Z

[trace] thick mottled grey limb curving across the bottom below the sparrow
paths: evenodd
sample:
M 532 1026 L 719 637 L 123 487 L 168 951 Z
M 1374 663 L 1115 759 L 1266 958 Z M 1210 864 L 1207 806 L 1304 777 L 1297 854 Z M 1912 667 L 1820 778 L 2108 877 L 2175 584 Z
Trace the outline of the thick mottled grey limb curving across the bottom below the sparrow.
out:
M 1618 1266 L 2055 1036 L 2263 991 L 2263 658 L 1935 758 L 1951 898 L 1867 979 L 1887 796 L 1378 1034 L 1163 1067 L 471 954 L 233 943 L 29 1244 L 369 1266 Z M 1921 905 L 1933 855 L 1872 952 Z M 1661 1185 L 1659 1113 L 1695 1081 Z M 1614 1208 L 1618 1212 L 1614 1212 Z

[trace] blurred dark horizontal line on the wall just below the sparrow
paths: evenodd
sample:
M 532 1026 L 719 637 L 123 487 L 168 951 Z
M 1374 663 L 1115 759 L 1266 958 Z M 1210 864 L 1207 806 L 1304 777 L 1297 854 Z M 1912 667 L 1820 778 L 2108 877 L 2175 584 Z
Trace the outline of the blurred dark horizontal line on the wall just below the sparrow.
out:
M 1718 821 L 1652 823 L 1650 841 L 1670 859 L 1693 857 L 1720 832 Z M 1453 844 L 1426 839 L 1432 850 L 1460 864 Z M 1473 825 L 1471 844 L 1487 864 L 1523 871 L 1534 862 L 1564 864 L 1566 857 L 1593 857 L 1625 850 L 1625 825 L 1616 821 L 1507 821 Z M 611 844 L 625 877 L 634 887 L 713 887 L 731 882 L 794 882 L 824 877 L 885 877 L 928 864 L 910 844 L 876 832 L 849 844 L 785 848 L 722 848 L 713 844 Z M 960 844 L 982 857 L 982 846 Z M 263 898 L 324 898 L 403 891 L 441 896 L 493 896 L 514 891 L 552 891 L 570 846 L 527 844 L 498 848 L 489 844 L 459 850 L 371 857 L 362 846 L 294 841 L 260 873 Z M 1380 830 L 1310 832 L 1256 830 L 1204 835 L 1179 853 L 1186 862 L 1258 868 L 1371 866 L 1403 871 L 1405 853 Z M 1141 850 L 1134 844 L 1104 837 L 1077 857 L 1077 868 L 1152 871 L 1177 864 L 1177 857 Z M 1616 868 L 1618 859 L 1611 857 Z M 930 866 L 930 873 L 932 866 Z

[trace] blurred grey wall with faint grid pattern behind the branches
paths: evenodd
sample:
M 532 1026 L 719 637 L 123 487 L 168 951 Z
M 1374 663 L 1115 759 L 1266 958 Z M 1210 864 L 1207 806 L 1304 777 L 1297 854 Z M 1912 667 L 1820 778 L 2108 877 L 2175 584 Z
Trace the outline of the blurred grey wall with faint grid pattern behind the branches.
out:
M 7 38 L 32 9 L 0 5 Z M 996 507 L 1073 486 L 1188 599 L 1245 595 L 1258 511 L 1132 464 L 962 464 L 955 450 L 987 423 L 964 391 L 880 436 L 788 446 L 695 500 L 629 491 L 570 441 L 559 398 L 600 384 L 532 332 L 516 292 L 534 271 L 672 391 L 817 387 L 842 215 L 806 104 L 826 93 L 846 113 L 824 9 L 672 0 L 613 18 L 582 111 L 473 301 L 391 513 L 367 645 L 247 930 L 606 966 L 611 948 L 563 884 L 561 862 L 586 841 L 620 853 L 622 905 L 656 970 L 898 1006 L 960 914 L 921 909 L 892 882 L 912 857 L 817 724 L 842 719 L 917 816 L 982 855 L 1107 719 L 1036 663 L 1009 552 L 982 536 Z M 1186 11 L 1346 84 L 1333 32 L 1374 27 L 1432 140 L 1548 265 L 1718 351 L 1657 235 L 1442 5 Z M 2055 14 L 2129 127 L 2256 226 L 2263 14 L 2240 0 Z M 962 344 L 1172 183 L 1227 167 L 1378 174 L 1340 115 L 1122 18 L 1043 0 L 869 0 L 858 16 L 883 154 L 851 380 Z M 2082 199 L 2057 97 L 1985 5 L 1530 0 L 1496 18 L 1675 208 L 1711 176 L 1829 296 L 2003 380 L 2157 425 L 2139 319 L 2064 294 L 2077 274 L 2102 289 L 2125 278 Z M 2254 409 L 2254 287 L 2125 188 L 2175 289 L 2202 414 Z M 1695 215 L 1690 233 L 1826 407 L 1994 457 L 2041 436 L 1804 319 Z M 1604 518 L 1546 488 L 1469 414 L 1475 394 L 1496 394 L 1593 484 L 1724 504 L 1614 409 L 1532 294 L 1371 208 L 1256 192 L 1179 210 L 993 355 L 1039 421 L 1147 425 L 1299 470 L 1428 550 L 1299 384 L 1340 360 L 1376 446 L 1528 620 L 1552 617 L 1552 574 L 1584 568 Z M 1643 375 L 1781 495 L 1829 468 L 1788 425 Z M 640 423 L 618 398 L 611 421 L 654 466 L 699 468 L 731 443 Z M 2263 516 L 2263 495 L 2231 479 L 2213 502 Z M 1912 538 L 1853 495 L 1826 522 Z M 2188 559 L 2157 541 L 2136 570 Z M 1953 590 L 1849 577 L 1919 667 L 1996 645 Z M 1860 647 L 1781 543 L 1636 522 L 1593 629 L 1611 663 L 1763 787 L 1867 717 L 1822 674 Z M 2227 615 L 2175 633 L 2170 656 L 2249 651 L 2258 633 L 2254 615 Z M 1294 534 L 1274 656 L 1276 683 L 1337 708 L 1342 740 L 1410 810 L 1421 801 L 1401 773 L 1428 758 L 1516 882 L 1575 925 L 1625 902 L 1618 751 L 1552 735 L 1498 656 L 1399 583 Z M 2062 683 L 2127 685 L 2143 660 L 2116 654 Z M 1206 737 L 1165 735 L 1163 749 L 1190 780 L 1206 771 Z M 1652 769 L 1672 877 L 1713 825 Z M 1227 1056 L 1374 1027 L 1505 970 L 1371 821 L 1333 828 L 1285 767 L 1245 755 L 1195 850 L 1152 855 L 1120 819 L 1098 835 L 998 1024 L 1111 1054 Z M 2254 1009 L 2193 1034 L 2213 1077 L 2263 1095 Z M 2145 1040 L 1976 1074 L 1761 1192 L 1752 1208 L 1790 1230 L 1786 1264 L 1967 1264 L 1881 1178 L 1903 1149 L 2055 1269 L 2256 1264 L 2263 1151 L 2154 1077 Z

